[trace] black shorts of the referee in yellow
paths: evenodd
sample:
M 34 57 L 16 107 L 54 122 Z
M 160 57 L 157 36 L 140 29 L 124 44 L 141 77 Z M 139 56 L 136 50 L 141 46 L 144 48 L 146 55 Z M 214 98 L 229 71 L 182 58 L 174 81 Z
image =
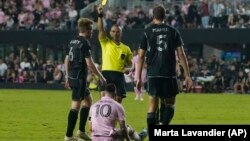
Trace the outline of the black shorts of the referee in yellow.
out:
M 102 75 L 105 77 L 108 83 L 113 83 L 116 86 L 117 95 L 125 98 L 126 87 L 124 74 L 117 71 L 102 71 Z M 101 86 L 101 91 L 105 90 L 105 86 Z

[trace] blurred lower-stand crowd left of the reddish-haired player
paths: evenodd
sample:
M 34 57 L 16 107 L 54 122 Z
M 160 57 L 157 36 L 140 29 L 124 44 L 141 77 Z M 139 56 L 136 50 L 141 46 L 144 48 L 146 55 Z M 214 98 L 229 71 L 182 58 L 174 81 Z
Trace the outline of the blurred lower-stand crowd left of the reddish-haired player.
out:
M 21 49 L 0 58 L 0 82 L 2 83 L 62 83 L 62 61 L 38 59 L 32 50 Z

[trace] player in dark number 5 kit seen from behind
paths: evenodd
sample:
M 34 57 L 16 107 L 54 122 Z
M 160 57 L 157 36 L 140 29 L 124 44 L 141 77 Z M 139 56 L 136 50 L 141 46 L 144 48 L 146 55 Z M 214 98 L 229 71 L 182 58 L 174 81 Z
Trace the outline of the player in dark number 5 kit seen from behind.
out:
M 160 122 L 167 125 L 174 116 L 175 96 L 178 93 L 175 51 L 177 51 L 178 58 L 184 69 L 186 88 L 190 89 L 192 85 L 181 36 L 176 29 L 163 23 L 165 13 L 162 6 L 154 8 L 153 24 L 145 30 L 138 51 L 138 80 L 136 85 L 138 90 L 142 86 L 142 68 L 145 53 L 147 52 L 149 93 L 147 124 L 149 131 L 153 131 L 150 129 L 150 125 L 158 124 L 156 111 L 159 98 L 161 99 Z M 152 138 L 149 137 L 149 140 L 152 141 Z

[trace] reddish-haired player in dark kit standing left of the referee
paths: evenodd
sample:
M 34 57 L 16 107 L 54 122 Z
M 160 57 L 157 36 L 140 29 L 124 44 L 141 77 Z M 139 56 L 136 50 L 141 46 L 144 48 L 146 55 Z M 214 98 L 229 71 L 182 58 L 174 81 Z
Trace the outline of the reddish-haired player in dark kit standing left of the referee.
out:
M 91 47 L 88 39 L 92 36 L 92 24 L 93 22 L 86 18 L 80 18 L 78 20 L 79 35 L 70 41 L 66 52 L 67 55 L 64 60 L 65 87 L 72 89 L 72 104 L 68 114 L 65 141 L 76 140 L 73 137 L 73 131 L 77 122 L 79 110 L 80 122 L 77 136 L 85 140 L 91 140 L 91 137 L 85 132 L 85 125 L 92 104 L 90 92 L 86 88 L 87 68 L 100 78 L 102 84 L 106 83 L 105 78 L 98 71 L 91 57 Z

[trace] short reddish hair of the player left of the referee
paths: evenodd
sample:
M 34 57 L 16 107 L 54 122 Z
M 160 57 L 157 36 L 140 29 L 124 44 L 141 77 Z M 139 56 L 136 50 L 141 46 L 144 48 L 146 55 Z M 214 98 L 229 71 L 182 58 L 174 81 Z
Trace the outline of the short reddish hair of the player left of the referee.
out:
M 80 33 L 84 33 L 86 32 L 87 30 L 91 30 L 91 25 L 93 24 L 94 22 L 91 21 L 90 19 L 88 18 L 80 18 L 78 21 L 77 21 L 77 27 L 78 27 L 78 30 L 80 31 Z

